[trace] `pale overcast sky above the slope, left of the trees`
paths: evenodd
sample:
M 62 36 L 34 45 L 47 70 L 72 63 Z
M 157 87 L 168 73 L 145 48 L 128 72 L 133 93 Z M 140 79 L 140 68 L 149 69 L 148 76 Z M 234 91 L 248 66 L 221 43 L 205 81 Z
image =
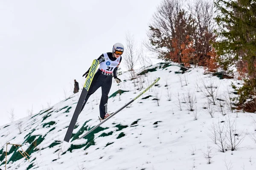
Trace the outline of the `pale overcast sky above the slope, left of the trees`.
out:
M 161 0 L 0 0 L 0 125 L 73 94 L 125 34 L 138 45 Z M 122 68 L 122 64 L 120 67 Z

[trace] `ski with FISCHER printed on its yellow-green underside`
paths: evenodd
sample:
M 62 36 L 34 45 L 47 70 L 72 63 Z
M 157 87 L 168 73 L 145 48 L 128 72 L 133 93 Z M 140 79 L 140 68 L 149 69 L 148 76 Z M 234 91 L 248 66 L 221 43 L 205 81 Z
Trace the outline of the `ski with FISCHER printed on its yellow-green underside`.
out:
M 70 121 L 70 125 L 68 126 L 67 133 L 64 137 L 65 142 L 70 141 L 70 137 L 73 133 L 74 127 L 76 125 L 76 121 L 78 119 L 78 116 L 80 114 L 81 108 L 82 108 L 83 103 L 84 103 L 84 99 L 87 96 L 88 90 L 90 88 L 91 82 L 93 81 L 93 77 L 96 73 L 98 65 L 99 65 L 99 61 L 97 59 L 94 59 L 93 63 L 92 63 L 92 66 L 90 67 L 89 74 L 88 74 L 88 76 L 85 80 L 84 87 L 82 89 L 82 92 L 81 92 L 81 95 L 79 97 L 78 103 L 76 105 L 75 112 L 73 113 L 72 119 Z

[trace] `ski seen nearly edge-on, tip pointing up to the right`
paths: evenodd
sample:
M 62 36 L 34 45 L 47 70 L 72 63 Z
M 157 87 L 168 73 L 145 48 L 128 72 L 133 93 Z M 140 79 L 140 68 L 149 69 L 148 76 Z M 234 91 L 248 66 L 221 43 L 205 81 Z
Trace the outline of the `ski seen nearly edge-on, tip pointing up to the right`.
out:
M 160 80 L 160 77 L 158 77 L 150 86 L 148 86 L 148 88 L 146 88 L 143 92 L 141 92 L 138 96 L 136 96 L 134 99 L 132 99 L 130 102 L 128 102 L 127 104 L 125 104 L 124 106 L 122 106 L 122 108 L 119 108 L 117 111 L 115 111 L 114 113 L 111 113 L 110 116 L 108 116 L 106 119 L 103 119 L 98 125 L 94 126 L 91 130 L 89 130 L 88 132 L 86 132 L 83 136 L 81 136 L 79 139 L 84 138 L 85 136 L 87 136 L 89 133 L 91 133 L 93 130 L 95 130 L 97 127 L 99 127 L 100 125 L 102 125 L 104 122 L 106 122 L 107 120 L 109 120 L 111 117 L 113 117 L 116 113 L 118 113 L 119 111 L 122 111 L 124 108 L 126 108 L 128 105 L 130 105 L 132 102 L 134 102 L 136 99 L 138 99 L 141 95 L 143 95 L 146 91 L 148 91 L 148 89 L 150 89 L 153 85 L 155 85 L 158 81 Z

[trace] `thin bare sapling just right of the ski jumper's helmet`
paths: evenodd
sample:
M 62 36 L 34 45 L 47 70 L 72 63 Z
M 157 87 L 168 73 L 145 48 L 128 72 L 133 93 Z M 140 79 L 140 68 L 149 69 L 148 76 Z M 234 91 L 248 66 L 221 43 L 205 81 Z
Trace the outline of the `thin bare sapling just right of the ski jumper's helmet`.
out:
M 125 36 L 126 40 L 126 52 L 124 54 L 124 63 L 126 68 L 128 68 L 128 71 L 130 71 L 131 79 L 134 79 L 136 77 L 136 74 L 134 74 L 134 67 L 138 61 L 137 51 L 135 48 L 135 42 L 134 37 L 127 33 Z

